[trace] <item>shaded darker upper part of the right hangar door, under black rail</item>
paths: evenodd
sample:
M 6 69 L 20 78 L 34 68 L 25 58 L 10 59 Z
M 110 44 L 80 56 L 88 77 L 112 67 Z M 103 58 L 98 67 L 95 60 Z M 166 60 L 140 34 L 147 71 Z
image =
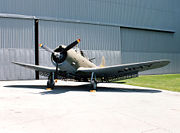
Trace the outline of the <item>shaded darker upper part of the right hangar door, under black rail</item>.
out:
M 174 44 L 174 34 L 121 28 L 124 52 L 178 53 L 180 45 Z

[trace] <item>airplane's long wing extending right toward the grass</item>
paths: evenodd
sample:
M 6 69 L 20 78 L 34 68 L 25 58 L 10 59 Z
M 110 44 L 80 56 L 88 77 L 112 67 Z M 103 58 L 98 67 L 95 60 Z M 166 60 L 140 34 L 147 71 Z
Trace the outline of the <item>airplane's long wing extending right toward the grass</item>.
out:
M 96 74 L 97 77 L 107 77 L 107 78 L 117 78 L 121 76 L 138 74 L 138 72 L 160 68 L 169 64 L 168 60 L 154 60 L 148 62 L 130 63 L 122 65 L 114 65 L 107 67 L 96 67 L 96 68 L 84 68 L 80 67 L 77 72 L 89 75 L 92 72 Z

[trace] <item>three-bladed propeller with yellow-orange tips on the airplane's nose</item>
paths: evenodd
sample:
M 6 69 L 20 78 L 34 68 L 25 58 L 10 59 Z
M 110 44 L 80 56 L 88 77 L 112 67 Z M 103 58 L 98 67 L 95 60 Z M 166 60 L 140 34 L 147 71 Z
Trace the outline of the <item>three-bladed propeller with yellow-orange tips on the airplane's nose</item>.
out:
M 46 45 L 43 45 L 43 44 L 39 45 L 41 48 L 43 48 L 44 50 L 52 53 L 52 55 L 54 55 L 56 57 L 56 78 L 57 78 L 57 75 L 58 75 L 58 63 L 61 62 L 63 60 L 63 58 L 65 59 L 64 56 L 67 54 L 67 51 L 72 49 L 79 42 L 80 42 L 80 39 L 77 39 L 76 41 L 69 44 L 66 48 L 63 48 L 60 52 L 56 52 L 56 50 L 52 50 L 49 47 L 47 47 Z

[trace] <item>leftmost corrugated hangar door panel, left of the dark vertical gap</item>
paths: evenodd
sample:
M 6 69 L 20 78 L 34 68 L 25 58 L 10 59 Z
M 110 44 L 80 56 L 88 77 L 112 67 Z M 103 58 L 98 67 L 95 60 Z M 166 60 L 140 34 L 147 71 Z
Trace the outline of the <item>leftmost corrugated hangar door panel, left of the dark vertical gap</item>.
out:
M 0 18 L 0 80 L 33 79 L 34 72 L 12 61 L 34 64 L 33 20 Z

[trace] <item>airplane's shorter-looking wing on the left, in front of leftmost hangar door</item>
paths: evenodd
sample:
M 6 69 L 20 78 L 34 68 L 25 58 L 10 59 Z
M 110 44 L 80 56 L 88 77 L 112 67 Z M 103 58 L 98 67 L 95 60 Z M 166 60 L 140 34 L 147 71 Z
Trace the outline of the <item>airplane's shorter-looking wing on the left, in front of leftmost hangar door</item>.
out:
M 46 73 L 46 74 L 56 71 L 55 67 L 46 67 L 46 66 L 32 65 L 32 64 L 19 63 L 19 62 L 12 62 L 12 63 L 19 65 L 19 66 L 22 66 L 22 67 L 25 67 L 25 68 L 29 68 L 29 69 L 39 71 L 41 73 Z

